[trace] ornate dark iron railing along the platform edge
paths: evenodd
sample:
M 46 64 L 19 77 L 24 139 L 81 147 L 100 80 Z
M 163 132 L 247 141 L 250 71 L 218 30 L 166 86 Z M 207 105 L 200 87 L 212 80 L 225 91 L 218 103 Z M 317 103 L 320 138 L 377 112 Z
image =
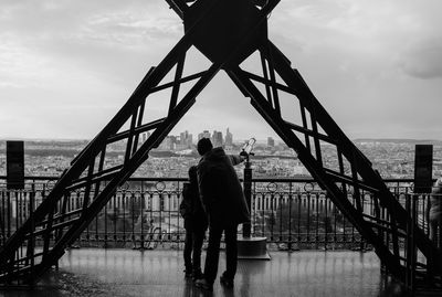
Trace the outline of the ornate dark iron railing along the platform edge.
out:
M 178 210 L 186 181 L 179 178 L 130 179 L 112 197 L 74 246 L 178 247 L 185 238 L 183 220 Z M 0 246 L 32 218 L 32 211 L 55 182 L 55 178 L 28 177 L 23 190 L 8 190 L 6 178 L 0 177 Z M 412 180 L 385 182 L 402 205 L 407 206 L 412 198 L 419 225 L 428 232 L 424 213 L 429 198 L 411 195 Z M 370 215 L 375 212 L 373 200 L 369 194 L 362 197 L 364 213 Z M 82 199 L 81 191 L 71 192 L 67 213 L 77 210 Z M 370 248 L 313 179 L 253 179 L 251 209 L 252 236 L 267 237 L 275 248 Z

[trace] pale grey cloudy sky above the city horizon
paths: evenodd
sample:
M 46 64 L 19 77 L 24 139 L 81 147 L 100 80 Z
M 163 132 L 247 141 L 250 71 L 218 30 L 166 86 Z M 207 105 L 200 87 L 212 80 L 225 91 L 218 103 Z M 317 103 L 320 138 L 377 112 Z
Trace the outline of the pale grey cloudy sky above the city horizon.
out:
M 442 139 L 440 11 L 440 0 L 282 0 L 269 38 L 350 139 Z M 182 35 L 162 0 L 0 0 L 0 139 L 93 138 Z M 208 65 L 192 52 L 185 72 Z M 167 102 L 148 98 L 147 113 Z M 275 135 L 219 73 L 171 134 L 228 127 Z

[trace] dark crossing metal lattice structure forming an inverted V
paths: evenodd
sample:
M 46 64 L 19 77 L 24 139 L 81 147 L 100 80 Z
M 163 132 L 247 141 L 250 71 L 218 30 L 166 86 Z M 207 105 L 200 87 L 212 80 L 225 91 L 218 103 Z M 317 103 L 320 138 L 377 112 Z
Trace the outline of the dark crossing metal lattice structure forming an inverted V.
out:
M 280 0 L 166 1 L 183 20 L 185 35 L 149 70 L 127 103 L 72 161 L 32 216 L 1 247 L 0 284 L 33 284 L 56 264 L 118 185 L 149 158 L 149 151 L 158 147 L 220 71 L 228 74 L 253 108 L 297 152 L 318 184 L 393 275 L 406 277 L 407 265 L 400 255 L 399 238 L 410 231 L 420 253 L 436 264 L 436 271 L 442 271 L 440 251 L 413 224 L 370 161 L 328 115 L 288 59 L 269 40 L 267 17 Z M 192 46 L 211 65 L 183 76 L 186 56 Z M 252 55 L 261 61 L 260 74 L 241 66 Z M 168 76 L 172 79 L 165 82 Z M 183 92 L 183 84 L 191 87 Z M 161 91 L 170 92 L 165 116 L 146 120 L 148 98 Z M 294 117 L 297 123 L 285 115 L 287 100 L 294 103 L 293 112 L 298 112 Z M 146 131 L 150 136 L 140 141 L 140 135 Z M 120 165 L 109 167 L 106 152 L 117 141 L 126 146 L 125 158 Z M 336 152 L 336 166 L 328 166 L 324 160 L 325 148 Z M 82 203 L 78 209 L 66 212 L 67 197 L 73 191 L 82 192 Z M 349 192 L 354 200 L 349 199 Z M 375 197 L 375 213 L 364 210 L 362 192 Z M 38 238 L 44 243 L 41 248 L 35 247 Z M 24 255 L 18 252 L 23 246 L 27 247 Z

